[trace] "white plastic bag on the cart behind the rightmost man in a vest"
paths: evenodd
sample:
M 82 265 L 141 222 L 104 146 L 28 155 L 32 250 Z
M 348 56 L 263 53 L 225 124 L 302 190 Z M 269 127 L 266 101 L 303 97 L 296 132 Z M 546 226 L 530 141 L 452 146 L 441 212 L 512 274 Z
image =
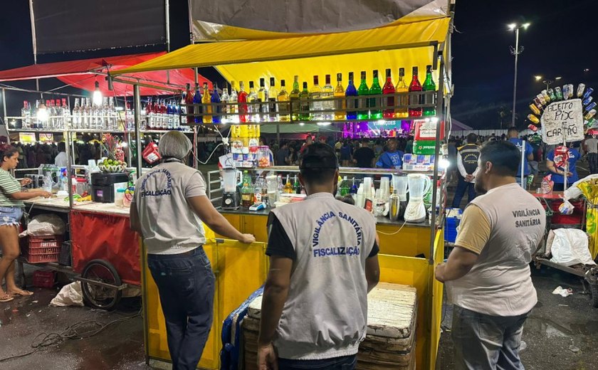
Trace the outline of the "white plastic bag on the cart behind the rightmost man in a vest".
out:
M 584 265 L 596 265 L 589 254 L 588 239 L 586 233 L 576 228 L 557 228 L 550 231 L 555 238 L 552 244 L 547 246 L 552 258 L 550 262 L 571 266 L 582 263 Z M 549 236 L 550 241 L 550 236 Z

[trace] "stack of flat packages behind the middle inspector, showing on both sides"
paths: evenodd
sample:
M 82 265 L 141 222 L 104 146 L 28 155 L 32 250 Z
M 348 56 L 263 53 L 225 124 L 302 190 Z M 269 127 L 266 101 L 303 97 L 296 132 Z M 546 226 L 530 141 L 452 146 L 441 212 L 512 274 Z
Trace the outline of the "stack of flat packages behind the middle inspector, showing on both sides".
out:
M 241 324 L 246 370 L 257 369 L 261 301 L 258 296 L 251 302 Z M 367 301 L 367 335 L 360 344 L 357 369 L 415 369 L 416 289 L 379 284 L 369 292 Z

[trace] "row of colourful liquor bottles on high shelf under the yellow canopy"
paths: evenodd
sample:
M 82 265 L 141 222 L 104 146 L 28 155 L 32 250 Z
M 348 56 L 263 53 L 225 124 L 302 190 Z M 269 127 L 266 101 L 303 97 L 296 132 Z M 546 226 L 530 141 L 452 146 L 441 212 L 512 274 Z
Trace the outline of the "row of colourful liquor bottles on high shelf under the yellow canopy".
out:
M 285 80 L 280 80 L 280 91 L 276 88 L 275 78 L 270 78 L 269 87 L 266 79 L 260 78 L 259 89 L 249 81 L 249 91 L 243 81 L 238 92 L 234 81 L 219 94 L 217 86 L 208 89 L 204 83 L 203 91 L 199 85 L 195 93 L 187 85 L 184 102 L 187 105 L 188 123 L 258 123 L 290 121 L 330 121 L 330 120 L 379 120 L 382 118 L 406 118 L 436 115 L 435 94 L 407 94 L 419 91 L 435 91 L 431 65 L 427 66 L 426 80 L 419 82 L 418 68 L 413 68 L 413 78 L 409 86 L 404 80 L 404 68 L 399 69 L 397 85 L 392 82 L 392 71 L 386 70 L 386 81 L 382 87 L 378 70 L 372 73 L 372 85 L 367 85 L 367 73 L 361 72 L 360 85 L 355 85 L 354 74 L 349 73 L 349 83 L 342 85 L 342 73 L 337 73 L 337 85 L 331 84 L 331 76 L 325 75 L 325 85 L 320 86 L 318 75 L 313 76 L 313 86 L 308 90 L 308 83 L 299 88 L 299 77 L 295 75 L 290 93 L 286 90 Z M 203 92 L 203 94 L 202 94 Z M 399 95 L 398 101 L 396 93 Z M 392 95 L 389 97 L 368 97 L 372 95 Z M 222 104 L 226 103 L 226 104 Z M 192 106 L 194 105 L 194 106 Z M 428 105 L 422 108 L 419 105 Z M 194 112 L 196 110 L 196 112 Z

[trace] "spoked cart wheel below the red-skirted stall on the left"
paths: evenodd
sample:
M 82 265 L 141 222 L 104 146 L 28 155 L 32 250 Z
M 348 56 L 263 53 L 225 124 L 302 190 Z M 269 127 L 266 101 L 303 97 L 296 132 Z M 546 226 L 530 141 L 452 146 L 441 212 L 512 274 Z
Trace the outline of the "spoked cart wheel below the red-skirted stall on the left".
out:
M 113 310 L 118 302 L 120 302 L 122 290 L 119 290 L 117 287 L 122 285 L 122 280 L 120 280 L 120 276 L 118 276 L 114 266 L 107 261 L 91 260 L 85 265 L 81 277 L 114 285 L 114 287 L 105 287 L 93 284 L 93 282 L 81 281 L 81 290 L 83 290 L 83 302 L 85 302 L 85 305 L 100 310 Z

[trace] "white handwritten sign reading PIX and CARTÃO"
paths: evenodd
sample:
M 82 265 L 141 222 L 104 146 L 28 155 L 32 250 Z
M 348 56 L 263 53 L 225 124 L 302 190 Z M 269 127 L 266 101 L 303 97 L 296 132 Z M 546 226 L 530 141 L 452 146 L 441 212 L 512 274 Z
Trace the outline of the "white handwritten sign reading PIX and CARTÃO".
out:
M 578 142 L 584 139 L 584 117 L 581 99 L 550 103 L 542 117 L 542 140 L 549 145 Z

